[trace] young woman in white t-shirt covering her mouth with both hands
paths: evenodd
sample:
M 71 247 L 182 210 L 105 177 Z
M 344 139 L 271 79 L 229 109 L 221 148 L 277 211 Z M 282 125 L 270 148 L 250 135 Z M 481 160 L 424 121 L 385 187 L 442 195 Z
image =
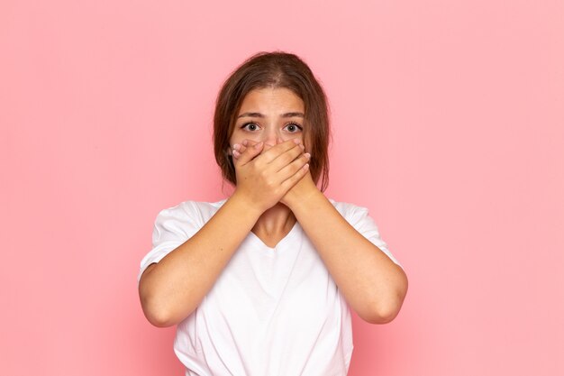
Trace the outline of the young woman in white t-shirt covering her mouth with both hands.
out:
M 160 211 L 138 276 L 186 375 L 346 375 L 349 307 L 373 324 L 399 312 L 407 278 L 367 208 L 323 195 L 329 135 L 294 54 L 256 54 L 223 84 L 214 151 L 234 192 Z

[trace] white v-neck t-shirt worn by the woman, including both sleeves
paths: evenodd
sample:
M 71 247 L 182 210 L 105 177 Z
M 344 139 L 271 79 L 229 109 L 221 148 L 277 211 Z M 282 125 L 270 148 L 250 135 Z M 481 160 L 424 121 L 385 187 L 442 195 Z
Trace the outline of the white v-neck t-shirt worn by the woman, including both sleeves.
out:
M 150 263 L 196 234 L 225 201 L 185 201 L 160 211 L 138 283 Z M 399 265 L 366 207 L 329 201 Z M 199 307 L 177 325 L 174 341 L 186 376 L 343 376 L 352 350 L 350 308 L 298 222 L 276 248 L 250 232 Z

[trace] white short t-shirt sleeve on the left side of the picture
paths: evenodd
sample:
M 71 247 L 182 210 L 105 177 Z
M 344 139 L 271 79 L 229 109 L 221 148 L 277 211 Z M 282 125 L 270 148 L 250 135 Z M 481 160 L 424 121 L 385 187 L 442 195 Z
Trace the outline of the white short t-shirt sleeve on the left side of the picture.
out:
M 137 275 L 138 285 L 143 271 L 151 263 L 159 262 L 197 233 L 201 228 L 199 222 L 196 207 L 189 201 L 159 212 L 153 226 L 152 249 L 141 260 L 141 268 Z

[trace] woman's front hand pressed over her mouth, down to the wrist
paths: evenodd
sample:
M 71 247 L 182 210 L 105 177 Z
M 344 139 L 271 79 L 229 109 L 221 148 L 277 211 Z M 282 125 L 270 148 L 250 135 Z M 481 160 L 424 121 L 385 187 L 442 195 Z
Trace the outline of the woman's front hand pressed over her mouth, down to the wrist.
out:
M 305 176 L 309 154 L 303 152 L 298 139 L 277 143 L 268 150 L 264 142 L 246 143 L 234 146 L 237 186 L 233 195 L 244 197 L 263 213 Z

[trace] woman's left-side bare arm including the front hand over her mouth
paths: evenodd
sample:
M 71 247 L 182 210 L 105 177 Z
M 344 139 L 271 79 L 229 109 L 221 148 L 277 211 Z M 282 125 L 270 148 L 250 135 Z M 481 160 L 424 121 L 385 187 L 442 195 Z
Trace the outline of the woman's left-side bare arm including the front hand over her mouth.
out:
M 307 158 L 296 142 L 278 144 L 254 158 L 260 151 L 261 145 L 241 152 L 234 160 L 238 184 L 232 197 L 194 236 L 141 275 L 141 306 L 154 326 L 173 326 L 189 316 L 259 216 L 305 176 Z

